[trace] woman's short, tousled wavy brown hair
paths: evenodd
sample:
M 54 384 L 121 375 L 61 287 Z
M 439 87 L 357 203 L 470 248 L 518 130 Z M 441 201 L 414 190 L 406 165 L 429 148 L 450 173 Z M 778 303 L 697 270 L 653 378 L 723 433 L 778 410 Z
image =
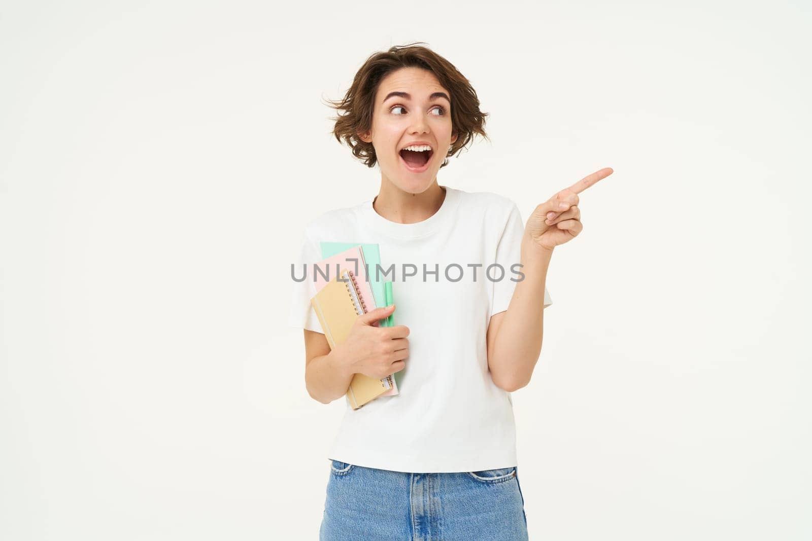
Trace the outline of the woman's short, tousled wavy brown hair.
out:
M 474 134 L 488 139 L 485 133 L 485 118 L 488 114 L 479 110 L 479 98 L 469 80 L 451 62 L 427 47 L 416 43 L 395 45 L 386 52 L 379 51 L 367 58 L 352 79 L 352 85 L 344 97 L 337 101 L 328 101 L 330 107 L 343 111 L 343 114 L 339 113 L 339 116 L 332 118 L 335 120 L 333 135 L 339 143 L 343 139 L 352 148 L 352 154 L 356 158 L 368 167 L 377 163 L 375 148 L 371 143 L 361 140 L 359 134 L 372 127 L 378 84 L 392 71 L 402 67 L 420 67 L 430 71 L 451 92 L 451 130 L 457 135 L 457 140 L 451 144 L 440 167 L 448 164 L 448 157 L 469 144 Z

